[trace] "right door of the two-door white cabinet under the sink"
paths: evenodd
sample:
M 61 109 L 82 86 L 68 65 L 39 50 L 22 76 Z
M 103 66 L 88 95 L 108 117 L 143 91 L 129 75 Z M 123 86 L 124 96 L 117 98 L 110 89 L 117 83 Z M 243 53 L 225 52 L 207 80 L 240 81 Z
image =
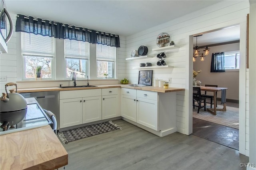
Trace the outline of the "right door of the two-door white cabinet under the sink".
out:
M 83 123 L 100 121 L 101 96 L 83 97 Z

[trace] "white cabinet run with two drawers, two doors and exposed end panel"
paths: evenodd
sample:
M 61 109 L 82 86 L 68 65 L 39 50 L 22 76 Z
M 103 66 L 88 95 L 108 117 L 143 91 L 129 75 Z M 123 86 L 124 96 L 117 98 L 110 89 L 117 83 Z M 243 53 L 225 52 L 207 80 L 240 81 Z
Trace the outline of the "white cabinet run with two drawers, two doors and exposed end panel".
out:
M 177 131 L 176 92 L 158 93 L 128 88 L 122 88 L 121 92 L 125 121 L 158 136 Z

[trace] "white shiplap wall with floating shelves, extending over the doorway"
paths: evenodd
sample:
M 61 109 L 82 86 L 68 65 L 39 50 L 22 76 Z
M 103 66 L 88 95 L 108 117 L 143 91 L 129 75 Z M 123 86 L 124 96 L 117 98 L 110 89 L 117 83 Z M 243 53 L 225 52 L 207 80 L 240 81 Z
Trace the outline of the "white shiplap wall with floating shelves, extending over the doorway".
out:
M 140 63 L 146 62 L 156 65 L 158 61 L 155 57 L 157 52 L 152 51 L 152 49 L 157 47 L 156 38 L 158 34 L 161 32 L 168 33 L 171 40 L 179 46 L 178 49 L 166 53 L 167 65 L 172 65 L 174 68 L 153 69 L 152 77 L 153 80 L 155 78 L 167 80 L 171 77 L 170 87 L 182 87 L 186 89 L 184 92 L 177 93 L 178 132 L 184 134 L 192 133 L 192 99 L 189 97 L 192 95 L 192 56 L 189 54 L 189 51 L 192 51 L 192 49 L 189 48 L 190 45 L 188 42 L 191 41 L 189 36 L 240 24 L 246 21 L 246 14 L 248 13 L 248 1 L 222 1 L 126 37 L 126 58 L 130 57 L 131 51 L 138 49 L 140 45 L 147 46 L 148 55 L 154 56 L 148 59 L 126 61 L 127 77 L 131 83 L 138 83 L 138 69 L 132 69 L 132 67 L 138 67 Z M 245 75 L 240 78 L 244 79 L 244 81 L 246 79 Z

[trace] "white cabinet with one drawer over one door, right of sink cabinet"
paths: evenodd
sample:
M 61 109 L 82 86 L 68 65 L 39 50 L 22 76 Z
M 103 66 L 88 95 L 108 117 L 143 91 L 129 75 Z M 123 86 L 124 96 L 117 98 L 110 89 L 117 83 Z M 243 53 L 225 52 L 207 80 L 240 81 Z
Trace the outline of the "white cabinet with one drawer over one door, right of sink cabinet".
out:
M 120 88 L 102 89 L 102 120 L 121 116 Z

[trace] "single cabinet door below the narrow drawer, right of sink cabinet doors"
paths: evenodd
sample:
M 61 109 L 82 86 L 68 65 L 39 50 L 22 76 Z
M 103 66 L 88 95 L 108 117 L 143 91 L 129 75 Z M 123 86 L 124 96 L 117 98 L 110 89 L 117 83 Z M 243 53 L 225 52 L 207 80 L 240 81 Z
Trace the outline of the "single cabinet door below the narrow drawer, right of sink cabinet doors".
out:
M 118 95 L 102 96 L 102 120 L 120 116 Z

